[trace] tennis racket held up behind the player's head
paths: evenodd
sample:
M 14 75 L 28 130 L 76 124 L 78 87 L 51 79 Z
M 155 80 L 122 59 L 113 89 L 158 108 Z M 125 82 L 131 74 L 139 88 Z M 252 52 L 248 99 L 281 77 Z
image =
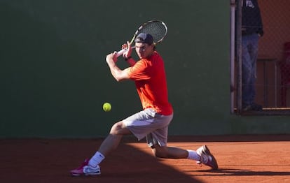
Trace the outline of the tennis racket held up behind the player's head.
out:
M 164 22 L 160 20 L 151 20 L 149 22 L 146 22 L 142 24 L 137 31 L 135 31 L 134 36 L 132 37 L 132 40 L 130 41 L 130 44 L 133 43 L 136 36 L 138 36 L 140 33 L 146 33 L 151 34 L 153 37 L 153 44 L 156 45 L 157 43 L 160 43 L 163 41 L 167 34 L 167 26 Z M 134 48 L 134 46 L 132 46 Z M 119 57 L 121 54 L 127 51 L 127 48 L 118 51 L 117 57 Z

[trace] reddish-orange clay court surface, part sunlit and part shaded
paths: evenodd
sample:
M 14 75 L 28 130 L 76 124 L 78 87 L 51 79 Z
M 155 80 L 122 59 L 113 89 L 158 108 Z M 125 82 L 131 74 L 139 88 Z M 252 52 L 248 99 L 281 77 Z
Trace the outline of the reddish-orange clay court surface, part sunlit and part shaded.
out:
M 156 159 L 144 141 L 124 138 L 97 177 L 69 170 L 91 156 L 102 139 L 2 139 L 1 182 L 290 182 L 290 136 L 178 136 L 170 146 L 207 145 L 219 170 L 195 161 Z

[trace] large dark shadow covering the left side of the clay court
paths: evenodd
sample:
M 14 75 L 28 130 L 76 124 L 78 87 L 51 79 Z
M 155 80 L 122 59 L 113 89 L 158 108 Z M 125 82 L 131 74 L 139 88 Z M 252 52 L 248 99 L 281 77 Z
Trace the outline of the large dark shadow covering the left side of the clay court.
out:
M 195 182 L 201 181 L 167 166 L 151 154 L 121 143 L 100 164 L 102 174 L 94 177 L 71 177 L 91 156 L 102 139 L 20 139 L 0 140 L 1 182 Z M 143 148 L 143 147 L 141 147 Z M 144 144 L 144 148 L 146 144 Z M 18 176 L 15 176 L 15 171 Z

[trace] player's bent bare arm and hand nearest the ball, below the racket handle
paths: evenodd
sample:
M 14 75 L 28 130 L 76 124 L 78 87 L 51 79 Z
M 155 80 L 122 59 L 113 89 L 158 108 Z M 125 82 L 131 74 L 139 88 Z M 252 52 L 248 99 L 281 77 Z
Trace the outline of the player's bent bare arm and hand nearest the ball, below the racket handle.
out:
M 115 78 L 117 81 L 130 79 L 129 75 L 127 74 L 128 73 L 127 70 L 129 68 L 125 68 L 124 70 L 121 70 L 116 65 L 116 61 L 117 61 L 116 52 L 106 55 L 106 63 L 108 64 L 110 68 L 113 78 Z

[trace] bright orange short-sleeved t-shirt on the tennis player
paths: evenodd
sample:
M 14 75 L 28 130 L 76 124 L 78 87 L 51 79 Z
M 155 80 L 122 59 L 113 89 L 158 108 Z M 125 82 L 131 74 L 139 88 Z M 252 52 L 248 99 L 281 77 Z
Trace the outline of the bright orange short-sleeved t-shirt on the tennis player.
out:
M 165 67 L 162 57 L 154 52 L 149 58 L 140 59 L 128 71 L 135 81 L 143 109 L 153 108 L 161 115 L 171 115 L 168 101 Z

